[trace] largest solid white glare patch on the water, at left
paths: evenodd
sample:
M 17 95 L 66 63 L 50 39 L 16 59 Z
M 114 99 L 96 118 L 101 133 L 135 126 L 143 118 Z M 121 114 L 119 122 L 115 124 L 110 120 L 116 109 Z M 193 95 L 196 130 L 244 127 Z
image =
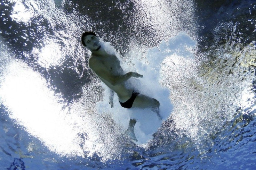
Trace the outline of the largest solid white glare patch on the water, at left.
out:
M 50 150 L 79 154 L 80 147 L 75 145 L 77 132 L 72 125 L 72 119 L 78 117 L 66 117 L 67 108 L 62 109 L 64 103 L 49 90 L 44 78 L 26 64 L 12 61 L 2 80 L 1 103 L 8 106 L 11 119 L 41 139 Z

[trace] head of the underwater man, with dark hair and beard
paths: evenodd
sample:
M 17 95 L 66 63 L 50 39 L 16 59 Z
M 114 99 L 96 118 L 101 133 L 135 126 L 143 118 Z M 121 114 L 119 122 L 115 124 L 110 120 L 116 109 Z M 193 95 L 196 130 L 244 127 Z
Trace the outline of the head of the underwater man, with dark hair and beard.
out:
M 90 51 L 98 51 L 101 48 L 99 38 L 91 31 L 82 34 L 81 43 Z

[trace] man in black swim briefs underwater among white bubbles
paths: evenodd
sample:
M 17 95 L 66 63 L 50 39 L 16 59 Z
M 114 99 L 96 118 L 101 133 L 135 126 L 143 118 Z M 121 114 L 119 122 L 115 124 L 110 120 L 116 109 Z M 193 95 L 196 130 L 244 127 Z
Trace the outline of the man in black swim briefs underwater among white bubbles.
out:
M 111 90 L 109 104 L 113 105 L 113 92 L 119 98 L 119 103 L 124 108 L 152 108 L 157 115 L 159 114 L 159 101 L 149 96 L 140 94 L 129 83 L 131 77 L 143 77 L 135 72 L 124 73 L 120 66 L 120 61 L 117 56 L 108 54 L 102 47 L 99 38 L 94 32 L 85 32 L 81 36 L 82 44 L 91 51 L 91 56 L 88 60 L 88 66 L 96 76 L 102 80 Z M 130 87 L 130 88 L 129 88 Z M 125 133 L 133 140 L 137 141 L 134 134 L 135 119 L 130 119 L 128 129 Z

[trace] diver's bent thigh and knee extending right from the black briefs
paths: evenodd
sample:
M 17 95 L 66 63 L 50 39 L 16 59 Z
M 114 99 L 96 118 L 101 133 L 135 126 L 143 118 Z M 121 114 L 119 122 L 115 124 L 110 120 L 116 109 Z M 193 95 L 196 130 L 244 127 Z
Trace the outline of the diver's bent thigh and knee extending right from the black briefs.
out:
M 133 102 L 132 108 L 152 108 L 152 110 L 157 113 L 157 116 L 162 119 L 159 113 L 159 106 L 160 103 L 158 100 L 143 94 L 138 94 Z

